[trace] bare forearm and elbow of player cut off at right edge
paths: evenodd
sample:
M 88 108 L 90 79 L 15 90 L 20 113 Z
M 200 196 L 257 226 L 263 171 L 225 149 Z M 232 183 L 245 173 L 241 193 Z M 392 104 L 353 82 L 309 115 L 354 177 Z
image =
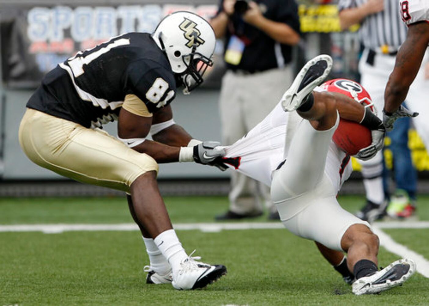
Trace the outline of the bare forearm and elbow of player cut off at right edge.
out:
M 396 55 L 395 68 L 384 92 L 384 111 L 393 114 L 405 100 L 429 43 L 429 23 L 418 22 L 408 28 L 407 39 Z

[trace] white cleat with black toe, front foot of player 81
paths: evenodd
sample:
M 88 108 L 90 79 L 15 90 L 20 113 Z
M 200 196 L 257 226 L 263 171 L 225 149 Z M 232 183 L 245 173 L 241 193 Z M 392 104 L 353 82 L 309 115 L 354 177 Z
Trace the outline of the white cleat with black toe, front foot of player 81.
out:
M 195 252 L 195 251 L 194 251 Z M 200 257 L 191 257 L 193 252 L 180 263 L 177 274 L 173 273 L 172 285 L 178 290 L 204 288 L 227 274 L 223 265 L 209 265 L 201 263 Z

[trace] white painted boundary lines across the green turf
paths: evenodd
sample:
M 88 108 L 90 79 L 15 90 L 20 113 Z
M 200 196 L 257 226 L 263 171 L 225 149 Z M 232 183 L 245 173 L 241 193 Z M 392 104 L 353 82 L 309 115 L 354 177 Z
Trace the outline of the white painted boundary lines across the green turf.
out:
M 246 230 L 246 229 L 284 229 L 280 222 L 255 223 L 177 223 L 174 224 L 177 230 L 200 230 L 202 232 L 216 233 L 222 230 Z M 387 251 L 401 257 L 411 258 L 417 263 L 417 271 L 426 278 L 429 278 L 429 261 L 422 255 L 411 251 L 404 245 L 395 242 L 389 235 L 381 229 L 423 229 L 429 228 L 428 221 L 419 222 L 376 222 L 372 225 L 375 234 L 380 238 L 380 244 Z M 42 232 L 46 234 L 63 233 L 71 231 L 134 231 L 138 230 L 134 223 L 121 224 L 18 224 L 0 225 L 1 232 Z

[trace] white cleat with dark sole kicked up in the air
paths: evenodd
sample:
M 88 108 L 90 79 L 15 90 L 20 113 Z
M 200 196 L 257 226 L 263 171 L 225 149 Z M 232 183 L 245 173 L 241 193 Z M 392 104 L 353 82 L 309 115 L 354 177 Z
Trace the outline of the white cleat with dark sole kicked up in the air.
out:
M 318 55 L 302 67 L 292 85 L 281 97 L 281 107 L 285 112 L 296 110 L 313 89 L 322 84 L 332 69 L 329 55 Z

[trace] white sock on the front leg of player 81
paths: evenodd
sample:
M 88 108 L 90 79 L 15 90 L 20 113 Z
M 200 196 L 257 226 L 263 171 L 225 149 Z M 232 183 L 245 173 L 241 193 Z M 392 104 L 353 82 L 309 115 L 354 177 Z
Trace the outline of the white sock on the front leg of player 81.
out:
M 166 230 L 156 236 L 154 242 L 168 260 L 175 274 L 175 272 L 180 269 L 181 261 L 187 258 L 187 254 L 182 248 L 182 244 L 177 238 L 176 232 L 174 229 Z

